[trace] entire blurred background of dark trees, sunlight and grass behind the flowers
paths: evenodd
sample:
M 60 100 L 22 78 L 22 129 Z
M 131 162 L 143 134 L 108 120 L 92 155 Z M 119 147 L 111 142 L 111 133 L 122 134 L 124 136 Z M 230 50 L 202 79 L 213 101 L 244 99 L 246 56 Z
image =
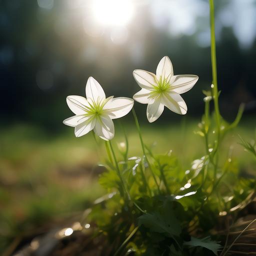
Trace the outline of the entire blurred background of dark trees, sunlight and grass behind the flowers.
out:
M 208 8 L 207 0 L 0 0 L 1 248 L 103 193 L 96 182 L 103 148 L 97 151 L 90 134 L 77 139 L 62 124 L 72 115 L 66 96 L 84 95 L 88 76 L 108 96 L 132 97 L 139 89 L 132 71 L 155 72 L 164 55 L 174 74 L 197 74 L 183 94 L 186 116 L 165 110 L 149 125 L 146 106 L 135 103 L 135 109 L 156 151 L 185 154 L 184 168 L 203 155 L 193 131 L 203 113 L 201 91 L 211 84 Z M 231 121 L 245 103 L 227 144 L 239 167 L 252 169 L 237 134 L 255 137 L 256 0 L 216 1 L 215 26 L 221 114 Z M 131 115 L 124 119 L 130 155 L 141 154 Z

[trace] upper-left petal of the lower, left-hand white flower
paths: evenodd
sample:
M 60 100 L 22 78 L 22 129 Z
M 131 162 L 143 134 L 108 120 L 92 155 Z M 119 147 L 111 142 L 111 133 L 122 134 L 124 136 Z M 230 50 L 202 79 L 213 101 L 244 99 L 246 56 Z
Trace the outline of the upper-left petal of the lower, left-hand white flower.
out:
M 71 111 L 75 114 L 84 114 L 89 104 L 85 97 L 70 95 L 66 97 L 66 103 Z

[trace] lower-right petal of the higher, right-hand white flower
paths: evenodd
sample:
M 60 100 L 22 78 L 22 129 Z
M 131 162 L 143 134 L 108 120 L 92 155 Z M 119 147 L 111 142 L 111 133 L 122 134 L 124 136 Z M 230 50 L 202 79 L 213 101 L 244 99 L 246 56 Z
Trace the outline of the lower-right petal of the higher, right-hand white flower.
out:
M 169 92 L 163 94 L 161 102 L 177 114 L 185 114 L 187 111 L 186 103 L 178 93 Z

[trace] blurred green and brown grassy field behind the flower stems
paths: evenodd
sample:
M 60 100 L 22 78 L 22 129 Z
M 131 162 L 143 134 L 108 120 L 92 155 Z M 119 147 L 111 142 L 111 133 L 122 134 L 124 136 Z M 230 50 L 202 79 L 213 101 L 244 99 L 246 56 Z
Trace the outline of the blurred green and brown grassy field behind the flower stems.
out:
M 157 153 L 172 150 L 185 169 L 205 154 L 203 139 L 194 133 L 198 120 L 181 123 L 144 124 L 144 141 Z M 239 169 L 255 174 L 255 159 L 238 144 L 241 135 L 255 138 L 256 121 L 243 119 L 229 132 L 222 144 L 222 157 L 236 159 Z M 122 129 L 115 125 L 113 143 L 124 141 Z M 135 126 L 125 125 L 129 156 L 141 155 Z M 16 235 L 45 222 L 81 211 L 104 193 L 97 176 L 106 154 L 104 143 L 96 145 L 92 134 L 76 138 L 66 127 L 61 134 L 49 135 L 38 127 L 15 125 L 0 130 L 0 247 Z M 119 159 L 121 155 L 119 154 Z M 7 237 L 7 239 L 6 239 Z

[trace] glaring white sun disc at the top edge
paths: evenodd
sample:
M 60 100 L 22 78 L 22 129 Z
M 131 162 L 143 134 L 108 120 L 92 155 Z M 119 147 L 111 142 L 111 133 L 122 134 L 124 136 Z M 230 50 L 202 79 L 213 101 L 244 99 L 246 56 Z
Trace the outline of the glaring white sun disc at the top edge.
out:
M 131 0 L 93 0 L 94 17 L 102 25 L 122 26 L 133 13 Z

